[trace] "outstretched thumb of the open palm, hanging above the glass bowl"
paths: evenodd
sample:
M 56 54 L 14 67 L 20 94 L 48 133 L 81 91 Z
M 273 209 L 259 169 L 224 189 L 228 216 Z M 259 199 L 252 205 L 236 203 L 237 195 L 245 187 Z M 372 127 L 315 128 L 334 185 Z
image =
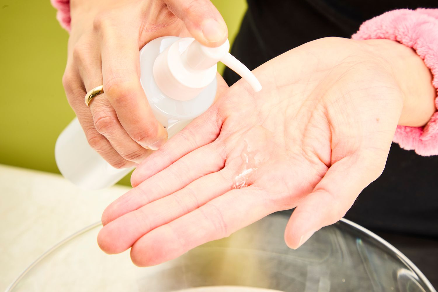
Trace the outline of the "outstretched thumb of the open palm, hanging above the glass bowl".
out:
M 286 225 L 286 244 L 297 249 L 314 232 L 338 222 L 359 193 L 380 176 L 385 161 L 385 157 L 374 160 L 366 155 L 352 155 L 330 166 L 313 192 L 293 211 Z

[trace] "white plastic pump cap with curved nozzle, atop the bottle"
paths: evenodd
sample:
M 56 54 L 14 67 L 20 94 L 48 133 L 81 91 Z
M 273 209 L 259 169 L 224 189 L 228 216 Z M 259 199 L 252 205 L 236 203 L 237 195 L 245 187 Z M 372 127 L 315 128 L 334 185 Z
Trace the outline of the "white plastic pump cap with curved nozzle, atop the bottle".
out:
M 179 39 L 164 50 L 154 63 L 154 79 L 167 96 L 177 100 L 190 100 L 212 83 L 221 61 L 244 78 L 254 89 L 261 84 L 252 72 L 228 51 L 228 39 L 223 45 L 211 48 L 201 45 L 193 38 Z

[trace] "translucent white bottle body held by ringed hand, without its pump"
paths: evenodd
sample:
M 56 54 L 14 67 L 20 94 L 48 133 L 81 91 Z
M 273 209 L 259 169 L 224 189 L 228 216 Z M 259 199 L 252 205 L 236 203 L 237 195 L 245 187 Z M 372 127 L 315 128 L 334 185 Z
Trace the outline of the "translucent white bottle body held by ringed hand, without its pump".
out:
M 161 37 L 152 40 L 140 51 L 141 84 L 155 118 L 166 127 L 169 138 L 212 105 L 217 89 L 215 78 L 194 99 L 181 101 L 170 98 L 158 88 L 153 77 L 155 59 L 178 39 L 180 38 L 174 36 Z M 190 43 L 187 41 L 180 44 L 181 52 Z M 112 186 L 133 169 L 116 169 L 106 162 L 89 146 L 77 118 L 58 137 L 55 159 L 65 178 L 88 190 Z

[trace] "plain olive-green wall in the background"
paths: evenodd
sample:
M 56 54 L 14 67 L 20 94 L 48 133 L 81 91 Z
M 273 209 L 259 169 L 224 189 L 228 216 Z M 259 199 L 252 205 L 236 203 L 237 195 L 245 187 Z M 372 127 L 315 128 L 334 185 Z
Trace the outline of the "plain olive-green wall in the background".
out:
M 245 1 L 212 2 L 232 40 Z M 0 0 L 1 164 L 59 172 L 55 141 L 74 112 L 61 84 L 68 34 L 55 14 L 49 0 Z M 129 178 L 120 183 L 129 185 Z

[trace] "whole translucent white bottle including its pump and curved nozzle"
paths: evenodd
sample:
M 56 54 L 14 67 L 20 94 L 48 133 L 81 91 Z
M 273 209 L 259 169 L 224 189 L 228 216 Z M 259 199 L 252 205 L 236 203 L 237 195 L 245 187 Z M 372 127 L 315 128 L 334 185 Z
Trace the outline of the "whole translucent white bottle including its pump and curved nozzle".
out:
M 254 74 L 228 53 L 229 49 L 228 40 L 210 48 L 193 38 L 175 36 L 154 39 L 141 49 L 141 85 L 169 138 L 212 105 L 219 61 L 242 76 L 254 91 L 261 90 Z M 77 118 L 58 137 L 55 159 L 65 178 L 88 190 L 112 186 L 132 170 L 116 169 L 94 151 Z

